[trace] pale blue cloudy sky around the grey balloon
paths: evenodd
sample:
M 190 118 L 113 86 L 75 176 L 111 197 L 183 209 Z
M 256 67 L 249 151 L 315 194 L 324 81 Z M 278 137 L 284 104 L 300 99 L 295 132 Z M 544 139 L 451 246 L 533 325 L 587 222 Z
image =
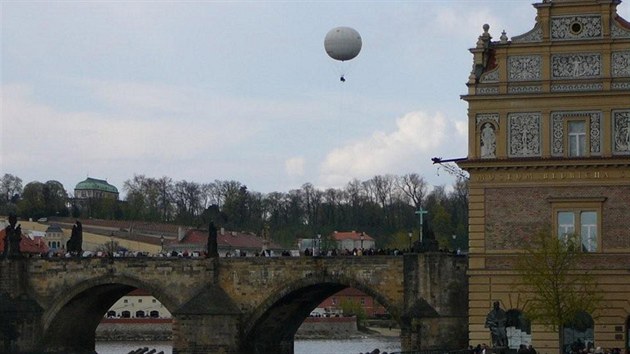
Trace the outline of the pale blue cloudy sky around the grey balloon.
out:
M 431 158 L 467 154 L 468 49 L 485 23 L 529 31 L 533 2 L 2 0 L 0 175 L 448 187 Z M 338 26 L 363 41 L 344 63 L 324 50 Z

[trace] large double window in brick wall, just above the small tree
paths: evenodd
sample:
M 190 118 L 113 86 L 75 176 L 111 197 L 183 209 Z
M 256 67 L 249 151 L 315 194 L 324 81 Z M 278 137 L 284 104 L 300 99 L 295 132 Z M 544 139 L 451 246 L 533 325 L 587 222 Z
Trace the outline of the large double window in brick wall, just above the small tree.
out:
M 554 199 L 552 210 L 558 237 L 580 245 L 582 252 L 600 250 L 602 203 L 605 198 Z

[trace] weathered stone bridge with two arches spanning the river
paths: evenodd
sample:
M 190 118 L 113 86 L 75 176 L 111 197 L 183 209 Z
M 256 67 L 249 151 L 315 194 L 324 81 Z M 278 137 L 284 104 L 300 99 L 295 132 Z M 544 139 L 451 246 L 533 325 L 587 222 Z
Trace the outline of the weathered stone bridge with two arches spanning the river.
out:
M 173 314 L 173 353 L 293 353 L 319 303 L 347 287 L 373 296 L 401 327 L 403 350 L 468 344 L 466 258 L 84 258 L 0 261 L 4 352 L 94 353 L 106 311 L 129 291 Z

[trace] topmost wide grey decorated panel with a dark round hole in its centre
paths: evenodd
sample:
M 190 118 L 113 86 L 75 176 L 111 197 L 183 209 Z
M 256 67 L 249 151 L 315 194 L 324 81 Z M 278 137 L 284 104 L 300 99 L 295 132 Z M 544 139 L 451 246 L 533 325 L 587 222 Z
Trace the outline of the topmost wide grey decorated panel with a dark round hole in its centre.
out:
M 601 16 L 559 16 L 551 18 L 552 40 L 599 38 L 602 38 Z

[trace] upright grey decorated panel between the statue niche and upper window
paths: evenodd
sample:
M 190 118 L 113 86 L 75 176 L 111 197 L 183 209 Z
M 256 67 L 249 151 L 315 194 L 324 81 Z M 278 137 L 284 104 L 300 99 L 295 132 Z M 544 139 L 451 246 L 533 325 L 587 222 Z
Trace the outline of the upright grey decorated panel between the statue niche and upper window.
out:
M 540 113 L 508 114 L 510 157 L 540 156 Z

